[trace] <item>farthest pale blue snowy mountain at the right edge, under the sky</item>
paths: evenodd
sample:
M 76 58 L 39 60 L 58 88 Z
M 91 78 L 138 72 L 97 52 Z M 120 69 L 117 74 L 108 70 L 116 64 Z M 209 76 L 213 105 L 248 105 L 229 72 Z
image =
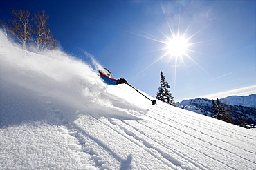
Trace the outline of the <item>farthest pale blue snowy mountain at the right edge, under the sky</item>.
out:
M 220 100 L 222 103 L 228 105 L 241 105 L 256 108 L 256 94 L 250 94 L 249 96 L 228 96 Z

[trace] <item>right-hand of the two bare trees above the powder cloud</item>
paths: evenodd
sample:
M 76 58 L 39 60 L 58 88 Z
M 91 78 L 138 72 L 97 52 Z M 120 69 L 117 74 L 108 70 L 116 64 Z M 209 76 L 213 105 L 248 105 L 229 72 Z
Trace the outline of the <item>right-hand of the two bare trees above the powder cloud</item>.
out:
M 34 14 L 33 21 L 35 24 L 35 39 L 32 39 L 37 45 L 37 52 L 42 53 L 44 50 L 51 50 L 57 47 L 57 41 L 53 38 L 48 25 L 49 15 L 44 10 Z

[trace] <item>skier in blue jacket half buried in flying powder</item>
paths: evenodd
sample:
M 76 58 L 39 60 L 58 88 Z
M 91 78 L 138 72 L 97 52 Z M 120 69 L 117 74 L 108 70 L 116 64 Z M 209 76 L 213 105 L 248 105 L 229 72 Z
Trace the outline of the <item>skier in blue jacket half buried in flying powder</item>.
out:
M 107 85 L 118 85 L 118 84 L 127 84 L 127 81 L 124 78 L 120 79 L 113 79 L 110 78 L 110 76 L 113 76 L 111 72 L 107 69 L 104 68 L 102 70 L 99 70 L 100 78 L 106 83 Z

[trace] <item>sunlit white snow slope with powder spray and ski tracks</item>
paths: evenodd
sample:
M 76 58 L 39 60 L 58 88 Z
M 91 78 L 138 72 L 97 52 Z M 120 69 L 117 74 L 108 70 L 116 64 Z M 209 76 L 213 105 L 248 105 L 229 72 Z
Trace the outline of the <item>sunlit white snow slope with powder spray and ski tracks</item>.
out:
M 256 169 L 255 131 L 151 105 L 82 61 L 21 50 L 3 32 L 0 60 L 0 169 Z

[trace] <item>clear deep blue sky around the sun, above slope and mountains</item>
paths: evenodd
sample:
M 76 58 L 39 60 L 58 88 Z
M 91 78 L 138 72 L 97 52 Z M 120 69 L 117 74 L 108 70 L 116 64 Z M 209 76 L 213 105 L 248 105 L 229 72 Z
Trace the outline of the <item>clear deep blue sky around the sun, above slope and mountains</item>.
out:
M 1 20 L 11 8 L 46 10 L 62 50 L 152 96 L 161 70 L 175 101 L 256 94 L 255 1 L 10 0 Z M 174 37 L 187 42 L 178 56 Z

